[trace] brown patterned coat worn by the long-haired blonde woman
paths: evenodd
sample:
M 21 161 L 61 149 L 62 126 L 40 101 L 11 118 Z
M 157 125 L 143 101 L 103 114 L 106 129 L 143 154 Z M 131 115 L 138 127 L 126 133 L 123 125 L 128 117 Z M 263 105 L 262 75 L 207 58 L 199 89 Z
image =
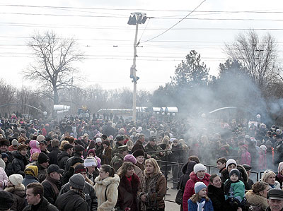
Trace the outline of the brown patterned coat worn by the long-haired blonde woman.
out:
M 141 209 L 164 209 L 164 196 L 166 194 L 167 183 L 165 176 L 159 172 L 157 174 L 144 174 L 141 186 L 138 191 L 138 198 L 141 202 Z M 141 201 L 141 195 L 146 195 L 146 202 Z

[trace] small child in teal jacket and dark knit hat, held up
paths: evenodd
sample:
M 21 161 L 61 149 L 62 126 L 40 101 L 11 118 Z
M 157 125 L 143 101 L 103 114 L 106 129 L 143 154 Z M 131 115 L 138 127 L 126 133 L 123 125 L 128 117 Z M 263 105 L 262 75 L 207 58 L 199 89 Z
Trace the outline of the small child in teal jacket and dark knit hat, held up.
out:
M 243 207 L 246 203 L 245 185 L 239 180 L 240 175 L 241 173 L 238 169 L 231 169 L 229 179 L 224 183 L 225 200 L 229 201 L 233 210 Z

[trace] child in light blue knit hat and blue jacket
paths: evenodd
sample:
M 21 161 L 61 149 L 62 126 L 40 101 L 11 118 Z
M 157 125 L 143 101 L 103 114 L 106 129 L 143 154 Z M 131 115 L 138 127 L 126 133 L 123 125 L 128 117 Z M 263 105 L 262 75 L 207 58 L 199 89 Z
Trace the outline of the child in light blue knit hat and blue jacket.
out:
M 195 183 L 195 194 L 187 200 L 189 211 L 213 211 L 212 201 L 207 197 L 207 186 L 198 181 Z

